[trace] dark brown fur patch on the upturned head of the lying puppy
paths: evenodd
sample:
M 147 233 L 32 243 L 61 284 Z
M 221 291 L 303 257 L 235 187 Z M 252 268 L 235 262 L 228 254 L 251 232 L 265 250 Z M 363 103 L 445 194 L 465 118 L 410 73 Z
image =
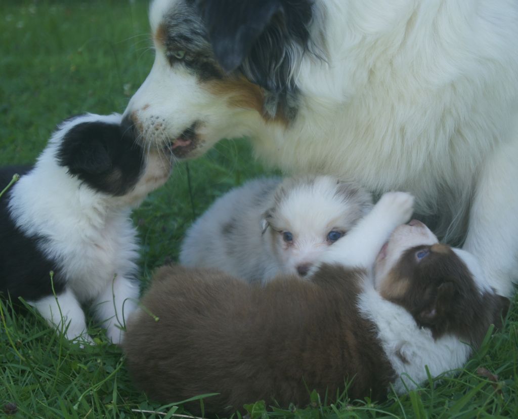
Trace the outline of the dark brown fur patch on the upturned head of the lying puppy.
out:
M 420 250 L 429 254 L 418 262 Z M 435 339 L 452 334 L 477 348 L 491 324 L 501 327 L 509 308 L 508 298 L 480 292 L 467 266 L 447 245 L 407 250 L 389 278 L 381 295 L 406 308 Z

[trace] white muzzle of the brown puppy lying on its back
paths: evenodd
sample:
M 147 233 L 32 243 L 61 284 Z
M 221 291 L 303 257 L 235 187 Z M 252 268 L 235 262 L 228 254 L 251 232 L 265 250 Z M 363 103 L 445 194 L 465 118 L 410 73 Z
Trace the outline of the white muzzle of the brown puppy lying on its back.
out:
M 387 277 L 387 274 L 406 250 L 438 242 L 439 240 L 434 233 L 420 221 L 412 220 L 409 224 L 397 227 L 376 258 L 374 265 L 375 287 L 379 287 L 380 282 Z

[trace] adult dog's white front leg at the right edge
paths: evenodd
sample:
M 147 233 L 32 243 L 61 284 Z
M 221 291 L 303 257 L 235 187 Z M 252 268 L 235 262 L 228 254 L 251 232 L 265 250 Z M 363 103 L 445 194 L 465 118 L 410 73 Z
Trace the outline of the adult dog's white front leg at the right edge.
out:
M 482 168 L 463 249 L 477 257 L 498 294 L 512 295 L 518 279 L 518 128 Z

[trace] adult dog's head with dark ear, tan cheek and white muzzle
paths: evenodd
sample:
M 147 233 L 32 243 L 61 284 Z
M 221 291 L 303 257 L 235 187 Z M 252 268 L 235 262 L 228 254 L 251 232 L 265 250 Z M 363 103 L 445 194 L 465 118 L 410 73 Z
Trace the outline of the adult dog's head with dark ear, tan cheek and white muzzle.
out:
M 312 9 L 311 0 L 155 0 L 155 62 L 125 111 L 138 138 L 194 157 L 258 119 L 289 125 Z

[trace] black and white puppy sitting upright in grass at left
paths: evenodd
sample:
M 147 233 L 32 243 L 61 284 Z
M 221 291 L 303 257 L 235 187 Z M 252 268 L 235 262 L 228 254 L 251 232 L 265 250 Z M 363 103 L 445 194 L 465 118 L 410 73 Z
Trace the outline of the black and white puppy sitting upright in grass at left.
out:
M 0 170 L 0 293 L 22 297 L 68 339 L 87 334 L 81 305 L 114 343 L 139 296 L 130 211 L 170 173 L 170 159 L 134 142 L 121 116 L 64 121 L 34 167 Z M 51 281 L 50 271 L 53 271 Z

